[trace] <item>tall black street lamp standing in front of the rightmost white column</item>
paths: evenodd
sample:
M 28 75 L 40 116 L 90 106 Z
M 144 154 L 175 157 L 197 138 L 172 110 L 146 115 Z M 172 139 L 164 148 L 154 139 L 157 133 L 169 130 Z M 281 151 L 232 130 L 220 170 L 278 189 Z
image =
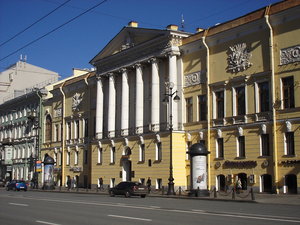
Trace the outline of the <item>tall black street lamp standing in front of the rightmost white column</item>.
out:
M 168 183 L 168 192 L 167 195 L 175 195 L 174 191 L 174 177 L 173 177 L 173 114 L 172 114 L 172 102 L 180 101 L 180 97 L 177 95 L 177 90 L 173 92 L 174 83 L 166 82 L 166 93 L 165 98 L 163 99 L 164 104 L 169 104 L 169 132 L 170 132 L 170 175 Z M 174 96 L 175 95 L 175 96 Z M 173 98 L 174 96 L 174 98 Z

